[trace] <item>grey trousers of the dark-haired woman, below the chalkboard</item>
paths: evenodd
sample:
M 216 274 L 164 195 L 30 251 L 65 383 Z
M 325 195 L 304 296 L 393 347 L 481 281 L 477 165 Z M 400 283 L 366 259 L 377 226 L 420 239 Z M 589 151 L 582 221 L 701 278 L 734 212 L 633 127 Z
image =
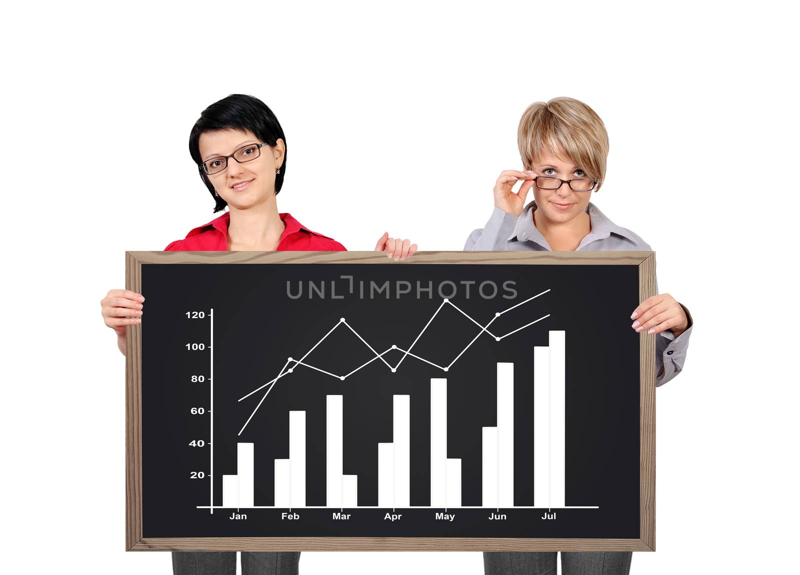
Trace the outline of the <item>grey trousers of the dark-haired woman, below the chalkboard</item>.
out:
M 242 575 L 298 575 L 300 553 L 242 551 Z M 173 551 L 174 575 L 236 575 L 235 551 Z

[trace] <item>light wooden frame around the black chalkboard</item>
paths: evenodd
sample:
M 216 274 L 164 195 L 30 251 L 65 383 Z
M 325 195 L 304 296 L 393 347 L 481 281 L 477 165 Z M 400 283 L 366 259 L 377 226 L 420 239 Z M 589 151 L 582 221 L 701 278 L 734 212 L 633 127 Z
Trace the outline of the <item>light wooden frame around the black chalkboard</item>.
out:
M 142 289 L 142 264 L 370 263 L 638 266 L 639 300 L 655 294 L 654 252 L 418 252 L 394 262 L 374 252 L 126 252 L 126 289 Z M 126 550 L 153 551 L 655 551 L 655 334 L 640 339 L 638 539 L 495 537 L 142 537 L 142 329 L 127 328 Z

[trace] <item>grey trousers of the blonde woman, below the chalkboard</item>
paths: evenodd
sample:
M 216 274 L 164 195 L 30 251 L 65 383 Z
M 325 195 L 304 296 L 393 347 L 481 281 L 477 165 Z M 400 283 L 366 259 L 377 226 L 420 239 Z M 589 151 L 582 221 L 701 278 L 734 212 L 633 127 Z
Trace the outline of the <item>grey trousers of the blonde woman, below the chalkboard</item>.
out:
M 627 575 L 632 551 L 562 551 L 562 575 Z M 558 551 L 483 553 L 486 575 L 556 575 Z

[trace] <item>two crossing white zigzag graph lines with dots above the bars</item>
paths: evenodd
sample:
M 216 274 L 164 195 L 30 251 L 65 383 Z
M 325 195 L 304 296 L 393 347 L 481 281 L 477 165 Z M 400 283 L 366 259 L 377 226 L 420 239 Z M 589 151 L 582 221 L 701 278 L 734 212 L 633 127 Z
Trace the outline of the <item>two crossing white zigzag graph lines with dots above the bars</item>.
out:
M 266 389 L 266 392 L 264 393 L 264 395 L 263 395 L 263 396 L 262 396 L 262 398 L 261 398 L 261 401 L 258 401 L 258 405 L 256 405 L 256 406 L 255 406 L 255 409 L 253 410 L 253 413 L 250 413 L 250 417 L 248 417 L 248 418 L 247 418 L 247 421 L 245 421 L 245 424 L 244 424 L 244 425 L 242 425 L 242 429 L 240 429 L 240 430 L 239 430 L 239 432 L 238 432 L 238 434 L 237 434 L 237 435 L 242 435 L 242 432 L 243 432 L 243 431 L 246 429 L 247 425 L 248 425 L 248 424 L 250 423 L 250 421 L 253 419 L 254 415 L 255 415 L 255 414 L 258 412 L 258 409 L 259 409 L 259 408 L 262 406 L 262 404 L 263 404 L 264 400 L 266 400 L 266 397 L 267 397 L 267 396 L 270 394 L 270 391 L 272 390 L 272 388 L 274 387 L 274 385 L 275 385 L 276 383 L 278 383 L 278 380 L 279 380 L 279 379 L 281 379 L 282 377 L 286 377 L 286 375 L 289 375 L 290 373 L 294 373 L 294 368 L 296 368 L 298 365 L 302 365 L 303 367 L 306 367 L 306 368 L 309 368 L 309 369 L 314 369 L 314 370 L 316 370 L 316 371 L 318 371 L 318 372 L 320 372 L 320 373 L 325 373 L 326 375 L 328 375 L 328 376 L 330 376 L 330 377 L 336 377 L 338 380 L 340 380 L 340 381 L 344 381 L 344 380 L 345 380 L 347 377 L 350 377 L 350 376 L 351 376 L 351 375 L 353 375 L 354 373 L 358 372 L 358 370 L 359 370 L 359 369 L 363 369 L 363 368 L 364 368 L 364 367 L 366 367 L 367 365 L 370 365 L 370 363 L 372 363 L 372 362 L 373 362 L 373 361 L 375 361 L 375 360 L 380 360 L 380 361 L 382 361 L 382 362 L 384 363 L 384 365 L 386 365 L 386 367 L 387 367 L 387 368 L 389 368 L 389 369 L 391 370 L 391 372 L 392 372 L 392 373 L 396 373 L 396 372 L 397 372 L 397 369 L 398 369 L 398 367 L 399 367 L 399 366 L 402 364 L 402 362 L 403 362 L 403 361 L 406 359 L 406 357 L 407 357 L 407 356 L 411 356 L 411 357 L 414 357 L 414 359 L 417 359 L 417 360 L 419 360 L 419 361 L 424 361 L 425 363 L 427 363 L 427 364 L 429 364 L 429 365 L 433 365 L 434 367 L 436 367 L 436 368 L 438 368 L 438 369 L 442 369 L 442 371 L 443 371 L 443 372 L 447 372 L 447 371 L 449 371 L 449 370 L 450 370 L 450 368 L 451 368 L 451 367 L 454 365 L 454 363 L 455 363 L 456 361 L 458 361 L 458 359 L 459 359 L 460 357 L 462 357 L 462 355 L 463 355 L 463 354 L 466 352 L 466 350 L 467 350 L 467 349 L 470 349 L 470 346 L 471 346 L 472 344 L 474 344 L 474 342 L 478 340 L 478 337 L 481 337 L 481 335 L 482 335 L 483 333 L 486 333 L 486 334 L 487 334 L 487 335 L 489 335 L 490 337 L 493 337 L 493 338 L 494 338 L 494 341 L 502 341 L 502 339 L 504 339 L 504 338 L 506 338 L 506 337 L 509 337 L 510 335 L 513 335 L 514 333 L 517 333 L 518 331 L 520 331 L 520 330 L 522 330 L 522 329 L 525 329 L 526 327 L 530 327 L 530 325 L 534 325 L 535 323 L 538 323 L 538 321 L 542 321 L 542 320 L 546 319 L 547 317 L 550 317 L 550 313 L 547 313 L 546 315 L 544 315 L 544 316 L 542 316 L 542 317 L 539 317 L 538 319 L 536 319 L 536 320 L 534 320 L 534 321 L 530 321 L 530 322 L 529 322 L 529 323 L 527 323 L 526 325 L 522 325 L 521 327 L 518 327 L 517 329 L 514 329 L 514 330 L 510 331 L 509 333 L 506 333 L 505 335 L 502 335 L 502 336 L 495 335 L 494 333 L 490 332 L 490 331 L 489 331 L 489 329 L 488 329 L 488 328 L 489 328 L 489 326 L 490 326 L 490 325 L 492 325 L 492 323 L 494 323 L 494 321 L 498 319 L 498 317 L 501 317 L 503 314 L 510 312 L 512 309 L 516 309 L 516 308 L 518 308 L 519 306 L 521 306 L 521 305 L 524 305 L 524 304 L 528 303 L 529 301 L 533 301 L 533 300 L 534 300 L 534 299 L 536 299 L 537 297 L 540 297 L 540 296 L 542 296 L 542 295 L 544 295 L 545 293 L 548 293 L 548 292 L 550 292 L 550 289 L 545 289 L 544 291 L 542 291 L 542 292 L 540 292 L 540 293 L 537 293 L 536 295 L 534 295 L 534 296 L 532 296 L 532 297 L 528 297 L 528 298 L 527 298 L 526 300 L 524 300 L 524 301 L 520 301 L 520 302 L 518 302 L 517 304 L 511 305 L 509 308 L 506 308 L 506 309 L 503 309 L 503 310 L 502 310 L 502 311 L 500 311 L 500 312 L 496 312 L 496 313 L 494 313 L 494 317 L 492 317 L 492 318 L 490 319 L 490 321 L 489 321 L 488 323 L 486 323 L 486 325 L 481 325 L 481 324 L 480 324 L 480 323 L 479 323 L 479 322 L 478 322 L 476 319 L 474 319 L 474 317 L 471 317 L 471 316 L 470 316 L 468 313 L 466 313 L 466 312 L 465 312 L 463 309 L 461 309 L 460 307 L 458 307 L 458 305 L 455 305 L 455 304 L 454 304 L 452 301 L 450 301 L 450 298 L 448 298 L 448 297 L 445 297 L 445 298 L 442 300 L 442 303 L 441 303 L 441 304 L 438 306 L 438 308 L 436 309 L 436 311 L 433 313 L 433 315 L 432 315 L 432 316 L 430 317 L 430 319 L 427 321 L 426 325 L 425 325 L 425 326 L 422 328 L 422 330 L 421 330 L 421 331 L 418 333 L 417 337 L 415 337 L 415 338 L 414 338 L 414 341 L 411 343 L 411 345 L 408 347 L 408 349 L 402 349 L 402 348 L 398 347 L 398 345 L 392 345 L 390 348 L 387 348 L 387 349 L 385 349 L 385 350 L 384 350 L 382 353 L 378 353 L 378 351 L 376 351 L 376 350 L 374 349 L 374 347 L 373 347 L 372 345 L 370 345 L 370 344 L 369 344 L 369 343 L 368 343 L 368 342 L 367 342 L 367 341 L 366 341 L 366 340 L 365 340 L 365 339 L 364 339 L 364 338 L 361 336 L 361 334 L 360 334 L 360 333 L 358 333 L 358 332 L 357 332 L 357 331 L 356 331 L 356 330 L 353 328 L 353 326 L 352 326 L 352 325 L 350 325 L 349 323 L 347 323 L 347 321 L 346 321 L 346 319 L 345 319 L 344 317 L 341 317 L 341 318 L 339 319 L 339 321 L 338 321 L 338 322 L 337 322 L 337 323 L 336 323 L 336 324 L 335 324 L 335 325 L 334 325 L 332 328 L 330 328 L 330 329 L 328 330 L 328 332 L 327 332 L 327 333 L 326 333 L 324 336 L 322 336 L 322 339 L 320 339 L 319 341 L 317 341 L 317 343 L 315 343 L 315 344 L 314 344 L 314 345 L 311 347 L 311 349 L 309 349 L 308 351 L 306 351 L 306 353 L 305 353 L 305 354 L 303 354 L 303 356 L 302 356 L 300 359 L 294 359 L 294 357 L 289 357 L 289 358 L 286 360 L 286 363 L 284 363 L 284 364 L 283 364 L 283 367 L 281 368 L 281 370 L 278 372 L 278 376 L 277 376 L 277 377 L 274 377 L 274 379 L 271 379 L 270 381 L 267 381 L 265 384 L 263 384 L 263 385 L 259 386 L 259 387 L 258 387 L 258 388 L 256 388 L 256 389 L 253 389 L 252 391 L 250 391 L 250 393 L 247 393 L 246 395 L 244 395 L 244 396 L 242 396 L 242 397 L 240 397 L 240 398 L 239 398 L 239 400 L 238 400 L 238 401 L 243 401 L 243 400 L 245 400 L 247 397 L 250 397 L 251 395 L 253 395 L 254 393 L 258 393 L 259 391 L 261 391 L 261 390 L 262 390 L 262 389 L 264 389 L 265 387 L 267 388 L 267 389 Z M 458 355 L 457 355 L 457 356 L 456 356 L 456 357 L 455 357 L 455 358 L 454 358 L 452 361 L 450 361 L 450 363 L 449 363 L 448 365 L 438 365 L 438 364 L 434 363 L 433 361 L 429 361 L 429 360 L 425 359 L 424 357 L 418 356 L 418 355 L 416 355 L 415 353 L 411 353 L 411 349 L 413 349 L 413 348 L 414 348 L 414 345 L 417 345 L 417 342 L 419 341 L 419 338 L 420 338 L 420 337 L 422 337 L 422 334 L 423 334 L 423 333 L 425 333 L 426 329 L 428 329 L 428 327 L 430 326 L 430 324 L 431 324 L 431 323 L 433 323 L 434 319 L 436 318 L 436 316 L 438 315 L 438 313 L 439 313 L 440 311 L 442 311 L 442 308 L 443 308 L 445 305 L 450 305 L 451 307 L 453 307 L 454 309 L 456 309 L 456 310 L 457 310 L 459 313 L 462 313 L 462 315 L 463 315 L 464 317 L 466 317 L 467 319 L 469 319 L 470 321 L 472 321 L 472 322 L 473 322 L 475 325 L 477 325 L 477 326 L 480 328 L 480 331 L 478 331 L 478 333 L 475 335 L 475 337 L 473 337 L 473 338 L 472 338 L 472 340 L 470 341 L 470 343 L 468 343 L 468 344 L 466 345 L 466 347 L 465 347 L 464 349 L 462 349 L 462 350 L 461 350 L 461 352 L 460 352 L 460 353 L 458 353 Z M 325 340 L 326 340 L 326 338 L 327 338 L 328 336 L 330 336 L 330 334 L 331 334 L 331 333 L 334 333 L 334 331 L 335 331 L 335 330 L 336 330 L 336 329 L 337 329 L 337 328 L 338 328 L 340 325 L 345 325 L 345 326 L 346 326 L 348 329 L 350 329 L 350 331 L 351 331 L 352 333 L 354 333 L 354 334 L 356 335 L 356 337 L 358 337 L 358 339 L 359 339 L 359 340 L 361 340 L 361 341 L 364 343 L 364 345 L 366 345 L 366 347 L 368 347 L 368 348 L 370 349 L 370 351 L 371 351 L 372 353 L 374 353 L 374 357 L 372 357 L 372 359 L 370 359 L 369 361 L 366 361 L 366 363 L 364 363 L 364 364 L 362 364 L 362 365 L 359 365 L 359 366 L 358 366 L 356 369 L 354 369 L 354 370 L 353 370 L 353 371 L 351 371 L 350 373 L 346 373 L 345 375 L 336 375 L 335 373 L 330 373 L 330 372 L 326 371 L 325 369 L 321 369 L 321 368 L 319 368 L 319 367 L 317 367 L 317 366 L 315 366 L 315 365 L 310 365 L 310 364 L 308 364 L 308 363 L 304 362 L 303 360 L 305 360 L 305 359 L 306 359 L 306 357 L 308 357 L 308 356 L 310 355 L 310 353 L 314 351 L 314 349 L 317 349 L 317 347 L 318 347 L 320 344 L 322 344 L 322 341 L 325 341 Z M 390 352 L 390 351 L 392 351 L 393 349 L 397 349 L 398 351 L 400 351 L 400 352 L 402 353 L 402 357 L 400 357 L 400 361 L 398 361 L 398 363 L 397 363 L 396 365 L 394 365 L 394 366 L 393 366 L 393 365 L 390 365 L 390 364 L 389 364 L 389 362 L 388 362 L 388 361 L 386 361 L 386 359 L 383 357 L 384 355 L 386 355 L 386 353 L 389 353 L 389 352 Z M 293 365 L 292 365 L 291 367 L 289 367 L 288 369 L 286 369 L 286 368 L 287 368 L 287 366 L 289 366 L 290 364 L 293 364 Z

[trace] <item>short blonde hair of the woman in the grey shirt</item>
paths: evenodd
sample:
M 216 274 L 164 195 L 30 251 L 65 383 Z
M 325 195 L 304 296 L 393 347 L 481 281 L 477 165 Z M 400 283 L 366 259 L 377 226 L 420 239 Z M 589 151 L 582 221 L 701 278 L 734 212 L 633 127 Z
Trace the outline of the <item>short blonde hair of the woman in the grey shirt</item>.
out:
M 538 158 L 550 154 L 574 162 L 598 182 L 595 190 L 606 177 L 606 126 L 594 110 L 574 98 L 553 98 L 528 106 L 519 121 L 517 143 L 526 170 L 533 170 Z

